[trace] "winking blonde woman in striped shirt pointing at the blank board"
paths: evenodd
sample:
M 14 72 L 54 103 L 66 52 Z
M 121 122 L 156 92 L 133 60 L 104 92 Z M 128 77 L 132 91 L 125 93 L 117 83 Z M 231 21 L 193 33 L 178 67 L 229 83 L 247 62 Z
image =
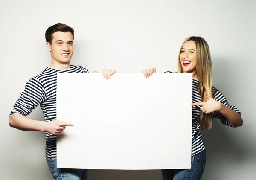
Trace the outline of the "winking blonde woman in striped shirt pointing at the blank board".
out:
M 177 73 L 193 74 L 191 169 L 162 170 L 163 180 L 200 180 L 206 164 L 206 150 L 199 128 L 212 128 L 212 118 L 231 127 L 243 124 L 239 110 L 229 105 L 223 94 L 212 87 L 211 69 L 209 46 L 204 38 L 186 38 L 180 49 Z M 145 78 L 155 72 L 155 68 L 141 71 Z

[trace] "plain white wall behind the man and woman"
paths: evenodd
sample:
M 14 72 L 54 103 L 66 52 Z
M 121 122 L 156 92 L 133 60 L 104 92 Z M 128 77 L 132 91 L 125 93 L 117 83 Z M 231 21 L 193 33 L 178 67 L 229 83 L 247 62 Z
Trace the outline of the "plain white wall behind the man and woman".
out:
M 72 64 L 137 73 L 177 70 L 183 40 L 202 36 L 212 54 L 213 84 L 242 112 L 244 125 L 216 122 L 203 131 L 207 165 L 203 180 L 240 180 L 256 176 L 256 100 L 253 0 L 10 0 L 0 1 L 1 108 L 0 178 L 51 180 L 44 157 L 44 133 L 10 128 L 9 112 L 33 75 L 50 64 L 44 33 L 55 23 L 75 29 Z M 30 118 L 43 120 L 36 108 Z M 89 172 L 90 180 L 160 180 L 160 171 Z

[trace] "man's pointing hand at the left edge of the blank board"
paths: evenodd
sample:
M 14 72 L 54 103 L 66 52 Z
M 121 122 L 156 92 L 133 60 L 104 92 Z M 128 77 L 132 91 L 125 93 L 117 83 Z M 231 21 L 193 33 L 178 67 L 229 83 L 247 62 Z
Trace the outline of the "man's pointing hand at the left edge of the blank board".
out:
M 52 121 L 48 121 L 45 123 L 45 131 L 48 132 L 49 134 L 53 134 L 53 135 L 59 135 L 62 133 L 62 131 L 64 129 L 66 129 L 66 126 L 74 126 L 71 123 L 68 122 L 64 122 L 61 120 L 52 120 Z

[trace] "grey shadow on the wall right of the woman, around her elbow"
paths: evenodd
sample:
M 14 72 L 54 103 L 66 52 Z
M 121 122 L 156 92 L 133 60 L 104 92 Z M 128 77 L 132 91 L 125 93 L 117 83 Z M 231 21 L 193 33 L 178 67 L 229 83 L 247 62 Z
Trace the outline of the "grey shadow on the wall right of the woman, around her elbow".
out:
M 253 132 L 247 131 L 250 127 L 246 123 L 252 121 L 253 116 L 247 119 L 244 104 L 248 88 L 244 80 L 249 77 L 246 72 L 241 74 L 241 70 L 245 70 L 247 64 L 229 57 L 215 59 L 212 62 L 212 84 L 224 94 L 230 105 L 235 105 L 241 111 L 245 123 L 242 127 L 231 128 L 221 124 L 219 119 L 213 119 L 212 130 L 201 131 L 207 150 L 207 164 L 202 180 L 241 179 L 239 172 L 243 174 L 244 171 L 241 167 L 248 166 L 248 157 L 255 158 L 253 151 L 256 151 L 250 142 Z M 230 59 L 233 63 L 230 63 Z

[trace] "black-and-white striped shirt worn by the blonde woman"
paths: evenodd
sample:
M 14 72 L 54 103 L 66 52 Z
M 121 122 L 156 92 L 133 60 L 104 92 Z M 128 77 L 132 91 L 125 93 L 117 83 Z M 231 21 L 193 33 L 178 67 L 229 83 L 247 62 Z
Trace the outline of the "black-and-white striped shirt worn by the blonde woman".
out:
M 166 71 L 164 73 L 173 73 L 173 72 Z M 192 91 L 193 91 L 192 92 L 192 102 L 193 103 L 201 102 L 202 101 L 201 95 L 198 93 L 199 81 L 196 79 L 193 79 L 192 86 L 193 86 L 192 87 Z M 235 111 L 236 113 L 238 113 L 241 116 L 241 112 L 239 112 L 239 110 L 235 106 L 228 105 L 227 99 L 220 91 L 216 90 L 214 87 L 212 87 L 212 90 L 216 91 L 215 95 L 212 97 L 213 99 L 215 99 L 218 102 L 221 102 L 223 105 L 225 105 L 226 107 Z M 205 149 L 204 141 L 202 139 L 202 134 L 199 132 L 199 129 L 200 129 L 199 117 L 200 117 L 200 113 L 201 113 L 200 109 L 201 109 L 201 106 L 193 106 L 192 107 L 192 150 L 191 150 L 192 156 L 200 153 L 201 151 L 203 151 Z M 216 118 L 216 119 L 220 119 L 221 123 L 224 125 L 235 128 L 235 126 L 233 126 L 228 121 L 228 119 L 218 111 L 213 112 L 212 117 Z

